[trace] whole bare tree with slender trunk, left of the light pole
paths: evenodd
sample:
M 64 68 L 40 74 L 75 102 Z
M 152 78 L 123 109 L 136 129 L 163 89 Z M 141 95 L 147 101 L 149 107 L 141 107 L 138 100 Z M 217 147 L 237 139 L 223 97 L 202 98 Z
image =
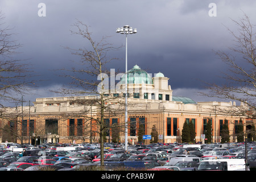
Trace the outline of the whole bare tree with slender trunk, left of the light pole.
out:
M 105 112 L 111 107 L 111 104 L 106 105 L 106 102 L 113 101 L 114 97 L 110 97 L 108 89 L 108 79 L 110 71 L 106 68 L 106 64 L 116 58 L 110 58 L 107 56 L 109 51 L 114 48 L 111 44 L 106 43 L 106 38 L 103 37 L 99 42 L 96 42 L 92 38 L 92 33 L 89 32 L 89 27 L 77 21 L 73 24 L 77 28 L 77 31 L 71 31 L 72 34 L 79 35 L 86 40 L 88 45 L 83 48 L 73 49 L 67 48 L 73 55 L 81 57 L 80 61 L 77 63 L 79 68 L 62 69 L 65 73 L 64 76 L 71 78 L 72 82 L 68 88 L 62 88 L 59 92 L 69 96 L 76 95 L 94 95 L 96 98 L 88 100 L 73 100 L 75 105 L 84 105 L 84 110 L 81 110 L 80 115 L 86 117 L 86 122 L 90 122 L 93 119 L 93 127 L 97 130 L 93 130 L 100 135 L 101 144 L 101 156 L 104 156 L 104 133 L 108 126 L 104 123 Z M 96 80 L 97 79 L 97 80 Z M 106 96 L 108 94 L 108 96 Z M 93 110 L 90 105 L 93 102 Z M 91 117 L 90 112 L 93 112 L 93 117 Z M 113 115 L 113 108 L 111 114 Z M 77 115 L 78 113 L 76 113 Z M 92 137 L 92 136 L 91 136 Z M 104 159 L 101 158 L 101 165 L 103 166 Z

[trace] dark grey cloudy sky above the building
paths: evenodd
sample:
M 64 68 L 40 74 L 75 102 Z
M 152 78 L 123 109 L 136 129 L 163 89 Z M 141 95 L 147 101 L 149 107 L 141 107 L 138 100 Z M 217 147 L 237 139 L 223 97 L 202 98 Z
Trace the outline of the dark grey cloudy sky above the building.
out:
M 46 9 L 39 6 L 46 5 Z M 214 7 L 209 7 L 215 3 Z M 115 29 L 126 24 L 138 33 L 128 36 L 128 69 L 135 64 L 148 73 L 162 72 L 176 96 L 195 101 L 213 100 L 197 96 L 204 89 L 202 81 L 221 84 L 219 77 L 226 66 L 213 50 L 225 51 L 233 46 L 226 27 L 237 31 L 232 19 L 243 13 L 256 21 L 255 0 L 1 0 L 0 10 L 5 25 L 12 27 L 13 39 L 23 44 L 15 59 L 27 60 L 34 69 L 38 89 L 35 95 L 24 96 L 26 101 L 37 97 L 54 97 L 49 89 L 68 84 L 57 69 L 72 67 L 71 60 L 79 59 L 67 49 L 89 46 L 85 39 L 71 35 L 77 20 L 90 26 L 93 38 L 108 36 L 113 46 L 125 45 L 125 36 Z M 43 10 L 43 11 L 41 11 Z M 45 11 L 44 11 L 45 10 Z M 216 11 L 215 11 L 216 10 Z M 45 13 L 46 16 L 40 13 Z M 214 16 L 211 16 L 214 15 Z M 216 15 L 216 16 L 215 16 Z M 118 57 L 109 68 L 125 71 L 125 48 L 110 52 Z

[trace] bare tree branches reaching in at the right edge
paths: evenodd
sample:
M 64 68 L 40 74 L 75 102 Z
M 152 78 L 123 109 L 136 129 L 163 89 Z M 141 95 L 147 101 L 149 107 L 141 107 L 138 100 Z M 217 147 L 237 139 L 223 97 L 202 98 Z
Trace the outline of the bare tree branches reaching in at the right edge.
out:
M 240 101 L 248 105 L 252 110 L 256 110 L 256 36 L 254 33 L 254 24 L 251 24 L 247 15 L 244 15 L 240 21 L 233 20 L 238 27 L 238 34 L 228 28 L 230 34 L 236 43 L 229 50 L 214 51 L 219 59 L 228 65 L 228 72 L 224 73 L 225 84 L 208 83 L 209 93 L 202 93 L 204 96 L 217 97 L 222 99 Z M 245 114 L 240 110 L 241 115 Z

